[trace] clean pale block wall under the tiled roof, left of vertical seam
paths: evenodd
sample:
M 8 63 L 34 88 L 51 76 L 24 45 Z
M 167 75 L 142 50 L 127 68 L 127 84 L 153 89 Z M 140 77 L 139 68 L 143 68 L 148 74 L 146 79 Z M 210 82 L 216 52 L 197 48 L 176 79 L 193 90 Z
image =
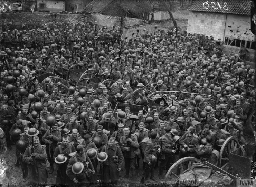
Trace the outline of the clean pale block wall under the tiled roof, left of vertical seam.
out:
M 214 36 L 223 41 L 226 14 L 189 11 L 188 33 Z

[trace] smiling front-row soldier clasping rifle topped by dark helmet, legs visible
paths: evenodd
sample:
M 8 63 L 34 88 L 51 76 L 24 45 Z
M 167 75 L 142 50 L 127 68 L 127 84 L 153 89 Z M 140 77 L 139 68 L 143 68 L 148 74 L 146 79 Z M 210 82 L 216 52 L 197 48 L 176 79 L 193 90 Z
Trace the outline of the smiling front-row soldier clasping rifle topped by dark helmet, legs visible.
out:
M 132 180 L 135 181 L 136 178 L 136 155 L 135 150 L 139 148 L 139 143 L 136 136 L 131 134 L 129 138 L 130 128 L 124 128 L 124 135 L 120 139 L 120 148 L 124 155 L 125 162 L 125 178 L 129 178 L 129 170 L 132 172 Z M 129 143 L 128 143 L 129 142 Z

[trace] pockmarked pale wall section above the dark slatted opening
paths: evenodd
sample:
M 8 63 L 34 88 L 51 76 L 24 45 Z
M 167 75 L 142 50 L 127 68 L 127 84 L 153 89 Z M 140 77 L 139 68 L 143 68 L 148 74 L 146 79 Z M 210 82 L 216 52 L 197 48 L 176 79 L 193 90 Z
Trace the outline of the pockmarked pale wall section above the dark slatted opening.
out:
M 255 35 L 251 32 L 249 15 L 227 14 L 225 37 L 234 37 L 239 40 L 255 41 Z

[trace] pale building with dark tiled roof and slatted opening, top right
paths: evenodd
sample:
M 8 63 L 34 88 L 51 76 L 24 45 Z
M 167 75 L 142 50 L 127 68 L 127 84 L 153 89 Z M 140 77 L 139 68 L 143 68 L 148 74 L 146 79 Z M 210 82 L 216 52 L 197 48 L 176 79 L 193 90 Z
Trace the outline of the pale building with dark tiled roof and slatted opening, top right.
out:
M 237 53 L 241 45 L 249 50 L 248 60 L 255 61 L 255 35 L 251 32 L 250 0 L 193 1 L 188 8 L 188 33 L 212 35 L 223 42 L 224 52 Z

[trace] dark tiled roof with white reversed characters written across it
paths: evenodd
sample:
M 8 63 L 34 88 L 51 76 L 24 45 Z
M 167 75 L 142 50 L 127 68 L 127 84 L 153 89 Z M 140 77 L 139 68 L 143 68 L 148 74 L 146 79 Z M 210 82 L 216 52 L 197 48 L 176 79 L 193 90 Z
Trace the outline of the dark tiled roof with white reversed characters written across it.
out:
M 208 2 L 208 4 L 206 3 Z M 211 3 L 214 2 L 214 3 Z M 219 5 L 217 4 L 219 2 Z M 226 6 L 224 6 L 227 3 Z M 238 15 L 250 15 L 251 13 L 251 1 L 250 0 L 218 0 L 218 1 L 207 1 L 207 0 L 196 0 L 193 1 L 192 5 L 188 8 L 190 11 L 199 12 L 218 12 Z M 215 9 L 214 9 L 214 8 Z M 207 9 L 208 8 L 208 9 Z

